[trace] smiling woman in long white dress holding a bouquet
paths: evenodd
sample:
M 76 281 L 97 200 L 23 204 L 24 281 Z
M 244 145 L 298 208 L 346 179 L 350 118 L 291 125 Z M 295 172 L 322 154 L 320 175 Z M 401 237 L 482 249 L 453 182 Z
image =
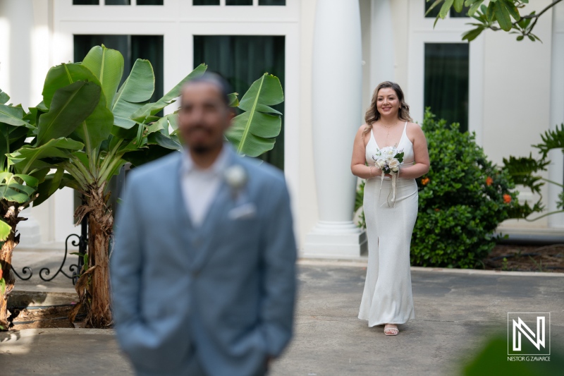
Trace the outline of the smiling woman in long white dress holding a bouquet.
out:
M 410 123 L 409 106 L 396 83 L 386 81 L 374 90 L 363 124 L 355 137 L 351 170 L 366 179 L 364 216 L 368 236 L 368 267 L 358 318 L 368 326 L 384 325 L 384 334 L 395 336 L 398 324 L 415 319 L 411 292 L 410 243 L 417 219 L 415 178 L 429 171 L 427 140 L 421 127 Z M 382 171 L 372 156 L 380 148 L 403 149 L 393 197 L 390 175 L 381 181 Z

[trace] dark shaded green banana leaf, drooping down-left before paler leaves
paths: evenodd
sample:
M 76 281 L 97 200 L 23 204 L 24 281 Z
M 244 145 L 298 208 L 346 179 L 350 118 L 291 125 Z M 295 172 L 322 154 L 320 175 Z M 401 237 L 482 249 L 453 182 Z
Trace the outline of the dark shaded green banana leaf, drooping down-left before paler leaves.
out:
M 51 109 L 39 117 L 37 146 L 54 138 L 66 137 L 92 114 L 100 100 L 100 87 L 77 81 L 55 92 Z

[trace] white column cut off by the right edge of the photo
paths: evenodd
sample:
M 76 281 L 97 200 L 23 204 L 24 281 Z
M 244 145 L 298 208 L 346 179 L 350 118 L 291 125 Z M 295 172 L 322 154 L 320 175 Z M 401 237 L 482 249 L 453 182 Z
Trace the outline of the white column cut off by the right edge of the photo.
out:
M 552 62 L 551 62 L 551 129 L 564 123 L 564 6 L 553 8 L 552 23 Z M 548 154 L 551 165 L 548 167 L 548 178 L 562 183 L 564 181 L 564 158 L 560 150 L 551 150 Z M 548 212 L 556 211 L 556 201 L 562 188 L 548 184 Z M 548 226 L 564 228 L 564 213 L 548 216 Z

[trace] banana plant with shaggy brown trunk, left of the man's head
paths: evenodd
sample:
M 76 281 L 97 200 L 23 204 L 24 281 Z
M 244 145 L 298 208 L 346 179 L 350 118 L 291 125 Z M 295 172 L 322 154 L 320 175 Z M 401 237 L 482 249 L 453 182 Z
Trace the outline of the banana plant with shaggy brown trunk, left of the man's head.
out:
M 82 96 L 86 102 L 75 105 L 90 109 L 88 116 L 78 123 L 56 126 L 39 121 L 33 145 L 10 155 L 14 166 L 33 168 L 45 162 L 44 154 L 52 154 L 52 148 L 60 150 L 64 146 L 61 142 L 81 146 L 71 153 L 51 156 L 49 166 L 56 166 L 56 172 L 46 176 L 37 188 L 52 193 L 67 186 L 85 197 L 85 205 L 78 207 L 75 217 L 80 222 L 88 215 L 88 262 L 75 286 L 80 302 L 71 320 L 85 303 L 88 325 L 111 325 L 108 250 L 114 219 L 107 205 L 110 193 L 106 187 L 125 162 L 140 164 L 180 149 L 178 136 L 168 133 L 168 118 L 161 121 L 157 113 L 180 95 L 185 82 L 204 71 L 205 66 L 196 68 L 156 103 L 149 103 L 154 92 L 151 63 L 137 59 L 120 86 L 123 56 L 104 45 L 93 47 L 80 63 L 62 63 L 47 73 L 42 94 L 49 112 L 54 111 L 57 93 L 86 83 L 98 89 L 90 99 Z

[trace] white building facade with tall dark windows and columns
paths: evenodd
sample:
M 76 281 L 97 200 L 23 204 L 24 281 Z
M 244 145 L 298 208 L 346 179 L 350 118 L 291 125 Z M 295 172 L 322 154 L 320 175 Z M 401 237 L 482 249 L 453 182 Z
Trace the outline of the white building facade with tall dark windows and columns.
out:
M 0 88 L 13 103 L 34 106 L 51 66 L 80 61 L 101 43 L 122 51 L 126 71 L 137 57 L 149 59 L 156 97 L 200 63 L 238 92 L 274 73 L 286 96 L 283 132 L 265 159 L 286 174 L 300 251 L 357 257 L 366 245 L 353 222 L 350 154 L 381 81 L 403 87 L 415 121 L 431 106 L 476 133 L 498 164 L 534 152 L 541 133 L 564 123 L 564 5 L 537 23 L 543 43 L 487 30 L 468 44 L 461 35 L 469 18 L 451 13 L 434 28 L 425 7 L 425 0 L 3 0 Z M 551 159 L 546 177 L 564 181 L 562 154 Z M 544 187 L 548 210 L 558 192 Z M 520 198 L 534 200 L 525 190 Z M 20 247 L 60 248 L 77 232 L 74 207 L 64 188 L 26 210 Z M 502 228 L 562 234 L 564 215 Z

